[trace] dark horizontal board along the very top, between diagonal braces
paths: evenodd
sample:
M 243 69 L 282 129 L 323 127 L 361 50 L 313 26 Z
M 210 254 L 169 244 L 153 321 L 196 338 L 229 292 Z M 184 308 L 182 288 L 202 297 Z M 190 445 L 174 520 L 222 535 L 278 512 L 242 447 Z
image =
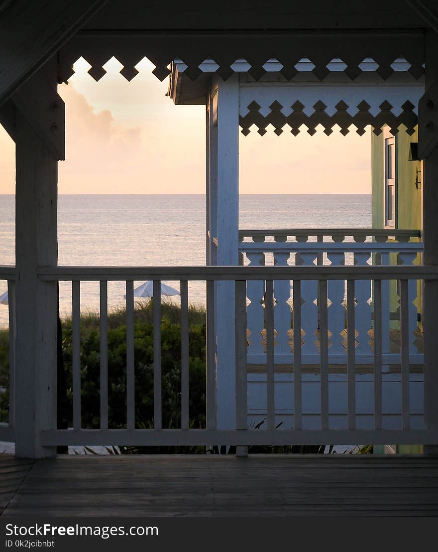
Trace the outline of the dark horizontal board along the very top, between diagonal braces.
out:
M 84 25 L 84 32 L 95 35 L 105 30 L 111 30 L 113 34 L 138 29 L 138 32 L 160 30 L 162 33 L 171 33 L 172 30 L 181 30 L 194 34 L 196 30 L 205 33 L 205 29 L 211 29 L 211 33 L 224 33 L 223 29 L 232 29 L 234 33 L 241 31 L 245 36 L 245 30 L 254 33 L 254 29 L 264 29 L 264 34 L 268 35 L 276 30 L 287 33 L 287 29 L 312 29 L 308 32 L 313 36 L 316 34 L 315 29 L 354 29 L 356 34 L 356 29 L 421 29 L 426 25 L 412 8 L 394 0 L 387 0 L 384 4 L 368 0 L 366 5 L 354 8 L 350 2 L 342 0 L 330 5 L 330 9 L 322 0 L 294 4 L 293 8 L 289 2 L 282 0 L 276 3 L 275 12 L 269 4 L 252 2 L 238 6 L 229 0 L 221 6 L 197 4 L 196 17 L 190 17 L 189 20 L 189 30 L 188 20 L 182 17 L 183 13 L 177 2 L 163 6 L 160 3 L 145 5 L 136 0 L 126 6 L 121 0 L 113 0 L 102 9 L 98 17 Z

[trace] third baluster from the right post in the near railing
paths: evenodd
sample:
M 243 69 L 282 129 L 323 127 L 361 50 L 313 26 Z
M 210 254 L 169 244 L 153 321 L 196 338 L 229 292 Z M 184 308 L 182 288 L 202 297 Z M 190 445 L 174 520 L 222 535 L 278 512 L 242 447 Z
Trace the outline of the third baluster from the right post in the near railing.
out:
M 356 429 L 355 280 L 347 280 L 347 394 L 348 428 Z

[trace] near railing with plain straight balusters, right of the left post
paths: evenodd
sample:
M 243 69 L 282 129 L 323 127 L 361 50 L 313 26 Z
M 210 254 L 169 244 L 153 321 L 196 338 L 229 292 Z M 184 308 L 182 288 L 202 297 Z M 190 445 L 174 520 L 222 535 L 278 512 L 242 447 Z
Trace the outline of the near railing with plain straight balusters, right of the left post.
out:
M 425 266 L 319 266 L 319 267 L 178 267 L 178 268 L 74 268 L 58 267 L 40 269 L 39 278 L 44 281 L 70 280 L 73 306 L 73 428 L 53 429 L 41 432 L 42 444 L 143 444 L 143 445 L 250 445 L 250 444 L 350 444 L 350 443 L 397 443 L 418 444 L 438 443 L 438 436 L 425 427 L 423 370 L 413 370 L 409 353 L 409 282 L 438 279 L 436 267 Z M 154 428 L 138 429 L 135 420 L 135 356 L 133 348 L 133 282 L 134 280 L 154 280 Z M 399 366 L 397 381 L 391 380 L 394 373 L 385 373 L 383 354 L 383 283 L 399 280 L 400 289 L 400 328 Z M 80 289 L 81 281 L 100 282 L 100 429 L 81 427 L 81 336 L 80 336 Z M 108 356 L 107 320 L 108 305 L 106 285 L 109 280 L 126 282 L 126 429 L 108 427 Z M 181 427 L 162 427 L 161 390 L 161 302 L 160 282 L 179 280 L 181 283 Z M 207 304 L 207 354 L 206 354 L 206 428 L 189 429 L 189 353 L 188 353 L 188 282 L 206 282 Z M 236 364 L 234 383 L 226 390 L 229 394 L 229 408 L 235 415 L 233 428 L 217 425 L 215 342 L 215 287 L 218 282 L 231 280 L 235 293 L 229 296 L 229 307 L 233 312 L 236 335 Z M 275 392 L 276 348 L 275 328 L 275 285 L 284 280 L 293 285 L 293 363 L 289 365 L 291 376 L 289 410 L 286 419 L 282 408 L 277 404 Z M 373 290 L 373 330 L 374 348 L 372 371 L 367 381 L 361 383 L 361 373 L 357 370 L 355 333 L 357 330 L 357 310 L 355 298 L 360 282 L 371 282 Z M 252 382 L 248 373 L 247 344 L 247 296 L 250 284 L 263 282 L 265 292 L 266 362 L 264 369 L 264 404 L 259 405 L 258 416 L 251 412 Z M 329 353 L 329 285 L 341 282 L 346 285 L 346 370 L 333 373 Z M 302 321 L 305 311 L 302 294 L 306 286 L 312 284 L 318 289 L 320 311 L 320 339 L 317 351 L 318 366 L 313 368 L 309 381 L 302 362 L 305 344 L 302 343 Z M 426 328 L 427 331 L 427 328 Z M 220 359 L 219 363 L 220 363 Z M 219 364 L 220 367 L 220 364 Z M 333 376 L 342 378 L 334 381 Z M 316 385 L 314 385 L 316 384 Z M 390 384 L 390 385 L 388 385 Z M 338 387 L 336 388 L 336 385 Z M 259 385 L 260 387 L 260 385 Z M 342 388 L 342 389 L 340 389 Z M 394 406 L 393 391 L 397 390 L 399 403 Z M 222 388 L 223 392 L 223 388 Z M 341 395 L 345 392 L 345 401 Z M 318 410 L 309 407 L 317 397 Z M 364 411 L 364 402 L 371 397 L 371 410 Z M 345 405 L 343 405 L 345 402 Z M 396 401 L 397 402 L 397 401 Z M 367 407 L 368 408 L 368 407 Z M 260 429 L 251 429 L 254 421 L 263 416 L 266 424 Z M 370 422 L 371 420 L 371 422 Z M 282 425 L 276 429 L 277 424 Z

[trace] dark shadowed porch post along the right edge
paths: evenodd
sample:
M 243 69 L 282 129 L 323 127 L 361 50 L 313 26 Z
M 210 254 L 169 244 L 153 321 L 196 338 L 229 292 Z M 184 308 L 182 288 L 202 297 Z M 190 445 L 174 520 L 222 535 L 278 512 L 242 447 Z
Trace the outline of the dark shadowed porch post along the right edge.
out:
M 438 266 L 438 36 L 426 31 L 425 89 L 419 103 L 419 153 L 423 163 L 424 264 Z M 436 312 L 438 282 L 425 280 L 424 328 L 424 416 L 425 427 L 438 432 L 438 340 Z M 438 454 L 438 446 L 426 444 L 425 454 Z

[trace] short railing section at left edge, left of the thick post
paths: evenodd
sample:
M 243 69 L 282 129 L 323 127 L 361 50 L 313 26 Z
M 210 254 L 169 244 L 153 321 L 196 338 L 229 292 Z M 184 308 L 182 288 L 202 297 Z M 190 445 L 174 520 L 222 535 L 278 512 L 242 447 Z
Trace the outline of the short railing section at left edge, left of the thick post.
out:
M 14 441 L 14 365 L 15 365 L 15 267 L 0 266 L 0 280 L 8 284 L 9 309 L 9 416 L 7 420 L 1 418 L 0 408 L 0 440 Z M 3 400 L 0 393 L 0 406 Z

